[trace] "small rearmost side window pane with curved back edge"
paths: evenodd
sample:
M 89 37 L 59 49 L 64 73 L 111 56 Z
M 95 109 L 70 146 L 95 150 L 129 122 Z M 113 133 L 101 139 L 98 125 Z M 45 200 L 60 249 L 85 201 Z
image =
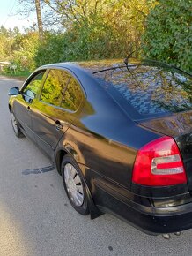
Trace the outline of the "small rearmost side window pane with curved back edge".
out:
M 83 92 L 81 90 L 78 81 L 73 77 L 70 77 L 68 86 L 63 94 L 63 100 L 61 107 L 63 109 L 70 109 L 71 111 L 76 111 L 83 99 Z

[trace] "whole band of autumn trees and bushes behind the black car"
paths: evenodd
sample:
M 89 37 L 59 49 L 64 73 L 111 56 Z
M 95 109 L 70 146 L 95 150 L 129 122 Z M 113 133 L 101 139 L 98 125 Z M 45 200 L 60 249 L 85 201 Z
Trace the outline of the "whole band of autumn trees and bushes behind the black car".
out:
M 20 4 L 24 12 L 34 9 L 34 1 Z M 41 64 L 124 58 L 132 52 L 191 72 L 191 0 L 35 0 L 35 4 L 38 26 L 23 33 L 17 27 L 0 28 L 1 60 L 17 66 L 16 71 L 8 66 L 6 73 L 27 75 Z

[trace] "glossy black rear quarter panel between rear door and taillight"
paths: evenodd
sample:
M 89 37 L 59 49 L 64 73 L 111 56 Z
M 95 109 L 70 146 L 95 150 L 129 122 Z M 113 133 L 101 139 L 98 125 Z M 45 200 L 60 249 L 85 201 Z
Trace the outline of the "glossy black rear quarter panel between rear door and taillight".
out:
M 57 150 L 72 152 L 96 177 L 130 188 L 137 149 L 160 135 L 135 124 L 91 75 L 79 74 L 79 80 L 87 96 L 85 105 Z M 86 171 L 84 176 L 92 186 L 94 175 Z

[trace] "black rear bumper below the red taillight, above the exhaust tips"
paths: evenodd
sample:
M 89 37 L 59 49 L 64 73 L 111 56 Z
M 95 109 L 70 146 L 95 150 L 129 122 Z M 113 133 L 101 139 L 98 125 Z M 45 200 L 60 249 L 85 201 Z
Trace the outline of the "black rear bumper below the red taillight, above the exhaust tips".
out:
M 177 207 L 145 207 L 108 191 L 106 186 L 97 185 L 97 190 L 101 211 L 117 215 L 145 233 L 158 235 L 192 228 L 192 203 Z

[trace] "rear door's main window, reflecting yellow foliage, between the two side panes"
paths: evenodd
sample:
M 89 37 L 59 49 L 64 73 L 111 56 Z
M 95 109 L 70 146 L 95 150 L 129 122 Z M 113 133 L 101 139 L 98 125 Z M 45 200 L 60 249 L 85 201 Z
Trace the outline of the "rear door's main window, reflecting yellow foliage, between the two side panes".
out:
M 41 91 L 41 101 L 60 106 L 63 92 L 70 79 L 70 74 L 61 70 L 50 70 Z

